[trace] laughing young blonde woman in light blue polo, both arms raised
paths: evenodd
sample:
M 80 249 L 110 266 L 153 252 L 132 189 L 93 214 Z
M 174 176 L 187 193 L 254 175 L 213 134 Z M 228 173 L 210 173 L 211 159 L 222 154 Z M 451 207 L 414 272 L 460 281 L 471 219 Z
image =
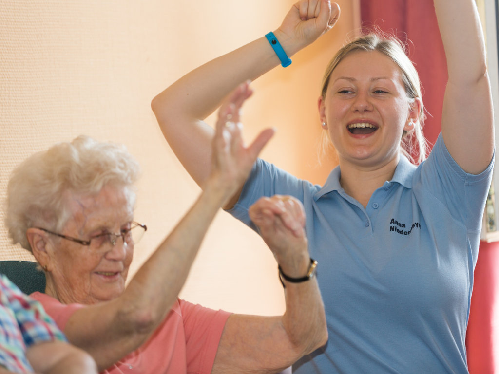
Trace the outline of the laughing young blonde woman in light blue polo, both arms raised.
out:
M 258 159 L 226 205 L 249 225 L 248 208 L 261 196 L 289 194 L 305 207 L 329 340 L 295 373 L 468 373 L 473 269 L 493 168 L 491 91 L 474 1 L 434 3 L 449 80 L 442 133 L 428 159 L 417 72 L 395 38 L 369 34 L 343 47 L 324 77 L 317 126 L 339 159 L 326 183 Z M 235 90 L 222 115 L 239 122 L 251 94 L 242 82 L 288 64 L 338 16 L 329 0 L 299 1 L 273 33 L 193 70 L 153 100 L 165 138 L 200 186 L 213 137 L 203 119 Z M 271 134 L 264 130 L 256 141 Z M 250 150 L 241 144 L 239 152 Z M 425 161 L 414 165 L 414 155 L 415 164 Z

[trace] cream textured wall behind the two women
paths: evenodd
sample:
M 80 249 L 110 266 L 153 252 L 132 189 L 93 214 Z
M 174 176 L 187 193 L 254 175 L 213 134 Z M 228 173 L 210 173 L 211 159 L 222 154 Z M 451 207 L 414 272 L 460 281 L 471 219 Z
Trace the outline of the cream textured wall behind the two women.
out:
M 293 2 L 0 0 L 1 200 L 12 169 L 35 151 L 79 134 L 125 144 L 143 167 L 136 219 L 149 227 L 133 275 L 199 193 L 162 138 L 151 99 L 196 66 L 275 29 Z M 290 67 L 254 82 L 245 108 L 248 140 L 266 126 L 278 129 L 263 157 L 318 184 L 331 169 L 317 166 L 315 151 L 320 79 L 356 19 L 355 1 L 339 4 L 337 27 Z M 10 244 L 3 218 L 0 211 L 0 259 L 29 258 Z M 224 212 L 181 296 L 241 313 L 283 310 L 270 252 Z

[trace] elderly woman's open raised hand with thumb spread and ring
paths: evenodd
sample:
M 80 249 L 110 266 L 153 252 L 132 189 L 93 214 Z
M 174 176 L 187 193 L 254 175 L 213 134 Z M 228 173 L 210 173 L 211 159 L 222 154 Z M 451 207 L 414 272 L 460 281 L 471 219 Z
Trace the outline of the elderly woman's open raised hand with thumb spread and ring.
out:
M 215 128 L 210 180 L 217 180 L 228 198 L 243 186 L 258 154 L 274 134 L 273 129 L 265 129 L 250 146 L 245 146 L 240 113 L 251 94 L 249 82 L 239 85 L 220 107 Z

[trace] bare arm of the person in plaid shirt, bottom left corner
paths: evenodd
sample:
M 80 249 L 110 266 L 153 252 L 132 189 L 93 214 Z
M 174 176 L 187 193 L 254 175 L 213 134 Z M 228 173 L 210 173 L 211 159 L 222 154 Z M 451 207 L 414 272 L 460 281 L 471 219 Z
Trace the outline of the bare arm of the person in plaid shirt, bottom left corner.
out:
M 28 347 L 26 357 L 36 373 L 97 374 L 97 366 L 90 355 L 61 341 Z

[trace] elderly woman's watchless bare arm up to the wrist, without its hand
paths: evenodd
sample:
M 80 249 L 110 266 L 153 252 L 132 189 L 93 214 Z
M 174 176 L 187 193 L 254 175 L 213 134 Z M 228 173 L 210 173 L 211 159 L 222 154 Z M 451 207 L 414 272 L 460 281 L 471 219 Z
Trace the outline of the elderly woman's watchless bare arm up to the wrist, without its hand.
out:
M 223 188 L 213 183 L 203 191 L 120 297 L 70 317 L 64 333 L 92 355 L 99 371 L 140 347 L 166 317 L 224 200 Z

